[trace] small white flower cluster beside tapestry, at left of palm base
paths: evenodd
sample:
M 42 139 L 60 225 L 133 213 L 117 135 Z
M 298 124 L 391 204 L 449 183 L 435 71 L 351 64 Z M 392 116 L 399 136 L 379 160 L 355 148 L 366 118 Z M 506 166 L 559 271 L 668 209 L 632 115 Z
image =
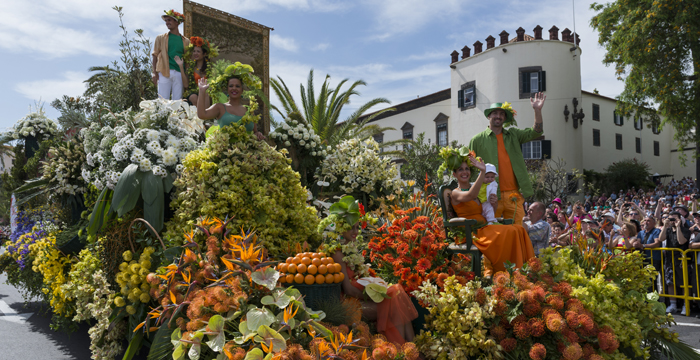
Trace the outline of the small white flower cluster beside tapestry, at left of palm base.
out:
M 328 155 L 326 147 L 321 145 L 321 137 L 314 133 L 311 124 L 286 118 L 282 126 L 270 133 L 270 138 L 278 145 L 296 148 L 299 154 L 318 158 Z

